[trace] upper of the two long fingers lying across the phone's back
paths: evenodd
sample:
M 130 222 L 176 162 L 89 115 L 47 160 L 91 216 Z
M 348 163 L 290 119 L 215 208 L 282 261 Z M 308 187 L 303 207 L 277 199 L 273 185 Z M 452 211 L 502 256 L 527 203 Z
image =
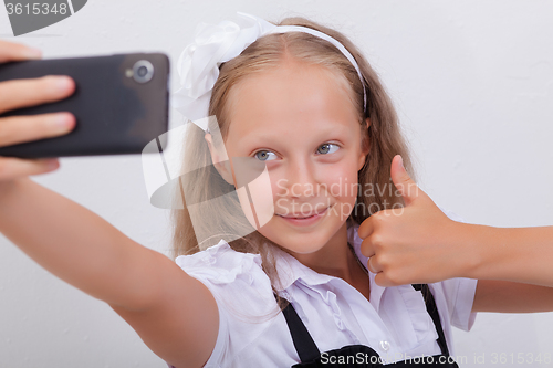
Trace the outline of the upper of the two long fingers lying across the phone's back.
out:
M 65 98 L 75 91 L 75 82 L 66 75 L 0 82 L 0 114 Z

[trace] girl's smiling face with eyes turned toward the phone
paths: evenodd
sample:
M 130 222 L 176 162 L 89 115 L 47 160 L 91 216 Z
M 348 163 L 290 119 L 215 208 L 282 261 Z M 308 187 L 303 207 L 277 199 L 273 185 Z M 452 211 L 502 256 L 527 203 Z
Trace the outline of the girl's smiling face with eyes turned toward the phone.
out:
M 344 77 L 290 59 L 231 88 L 227 154 L 267 164 L 271 191 L 264 198 L 274 213 L 258 231 L 293 253 L 345 241 L 367 154 L 349 98 Z M 240 199 L 242 208 L 250 207 Z M 293 219 L 313 213 L 320 214 Z

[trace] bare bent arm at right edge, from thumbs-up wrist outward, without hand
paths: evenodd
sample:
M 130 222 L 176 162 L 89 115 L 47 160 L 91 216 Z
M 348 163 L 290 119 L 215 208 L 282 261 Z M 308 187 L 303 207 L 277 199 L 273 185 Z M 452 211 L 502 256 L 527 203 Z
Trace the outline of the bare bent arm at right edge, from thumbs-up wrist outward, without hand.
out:
M 479 260 L 466 273 L 466 277 L 480 278 L 472 312 L 553 311 L 553 287 L 547 287 L 553 285 L 552 227 L 457 225 L 460 231 L 452 240 L 459 248 L 466 244 Z

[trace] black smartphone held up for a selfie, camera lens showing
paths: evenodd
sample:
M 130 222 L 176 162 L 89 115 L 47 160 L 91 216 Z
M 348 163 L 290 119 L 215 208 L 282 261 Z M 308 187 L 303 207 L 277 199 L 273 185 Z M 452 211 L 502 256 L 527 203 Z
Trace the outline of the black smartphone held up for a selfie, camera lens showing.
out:
M 75 128 L 63 136 L 0 147 L 0 156 L 140 154 L 152 139 L 168 129 L 169 59 L 163 53 L 0 64 L 0 82 L 44 75 L 71 76 L 75 92 L 65 99 L 6 112 L 0 117 L 71 112 L 76 117 Z

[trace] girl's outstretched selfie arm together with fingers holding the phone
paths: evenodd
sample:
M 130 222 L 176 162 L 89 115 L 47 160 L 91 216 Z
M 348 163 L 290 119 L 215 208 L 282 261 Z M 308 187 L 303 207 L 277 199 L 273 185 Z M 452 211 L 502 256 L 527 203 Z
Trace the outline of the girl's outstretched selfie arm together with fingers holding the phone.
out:
M 40 56 L 0 40 L 0 63 Z M 66 76 L 0 82 L 0 114 L 65 98 L 74 88 Z M 0 147 L 60 136 L 74 125 L 69 113 L 2 117 Z M 212 295 L 163 254 L 25 178 L 58 165 L 58 159 L 0 157 L 0 232 L 53 274 L 109 303 L 159 357 L 177 368 L 200 367 L 217 338 Z M 24 179 L 13 181 L 18 178 Z

